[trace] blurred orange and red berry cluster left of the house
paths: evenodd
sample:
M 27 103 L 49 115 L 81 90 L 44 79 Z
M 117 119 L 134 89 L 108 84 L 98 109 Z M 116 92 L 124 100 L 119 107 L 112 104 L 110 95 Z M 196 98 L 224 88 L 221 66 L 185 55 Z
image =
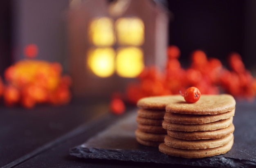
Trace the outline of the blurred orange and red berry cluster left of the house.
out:
M 66 104 L 71 99 L 72 80 L 61 75 L 62 66 L 42 60 L 21 60 L 4 72 L 6 84 L 0 81 L 4 104 L 21 104 L 32 108 L 38 103 Z

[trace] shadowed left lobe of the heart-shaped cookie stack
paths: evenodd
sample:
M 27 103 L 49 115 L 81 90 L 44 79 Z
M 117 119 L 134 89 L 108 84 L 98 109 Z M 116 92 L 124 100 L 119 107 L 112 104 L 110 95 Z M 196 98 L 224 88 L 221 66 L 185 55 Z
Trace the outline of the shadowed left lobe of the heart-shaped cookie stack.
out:
M 138 101 L 139 110 L 136 118 L 138 128 L 135 135 L 139 144 L 158 147 L 164 142 L 167 133 L 162 127 L 162 122 L 168 103 L 170 103 L 168 96 L 146 97 Z

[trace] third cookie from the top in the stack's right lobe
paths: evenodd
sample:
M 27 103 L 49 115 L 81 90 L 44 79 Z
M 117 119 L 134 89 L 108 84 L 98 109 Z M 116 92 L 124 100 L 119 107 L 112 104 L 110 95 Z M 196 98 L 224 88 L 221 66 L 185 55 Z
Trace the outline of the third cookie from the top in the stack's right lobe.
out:
M 228 119 L 222 119 L 217 122 L 211 122 L 207 124 L 173 124 L 166 121 L 163 122 L 162 126 L 166 130 L 177 130 L 177 131 L 208 131 L 208 130 L 218 130 L 222 128 L 227 128 L 233 122 L 233 117 Z

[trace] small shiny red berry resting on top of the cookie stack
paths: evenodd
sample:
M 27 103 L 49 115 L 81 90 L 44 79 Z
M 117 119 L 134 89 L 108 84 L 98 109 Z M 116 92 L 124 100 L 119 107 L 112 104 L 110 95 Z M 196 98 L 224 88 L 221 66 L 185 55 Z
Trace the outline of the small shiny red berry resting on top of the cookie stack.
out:
M 182 95 L 186 102 L 195 103 L 200 99 L 201 93 L 196 87 L 187 88 Z

